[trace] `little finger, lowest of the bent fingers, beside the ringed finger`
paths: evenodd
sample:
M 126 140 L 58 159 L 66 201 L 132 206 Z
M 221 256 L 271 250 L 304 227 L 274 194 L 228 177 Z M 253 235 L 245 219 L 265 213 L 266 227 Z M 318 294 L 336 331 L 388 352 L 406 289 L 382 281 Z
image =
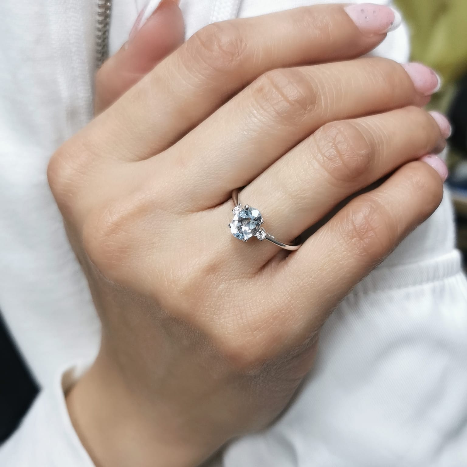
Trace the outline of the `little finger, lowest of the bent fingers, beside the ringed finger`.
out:
M 443 198 L 439 163 L 444 163 L 438 161 L 436 167 L 425 161 L 404 165 L 352 199 L 282 263 L 275 280 L 287 287 L 276 290 L 286 289 L 283 298 L 293 304 L 295 316 L 308 316 L 308 331 L 436 210 Z

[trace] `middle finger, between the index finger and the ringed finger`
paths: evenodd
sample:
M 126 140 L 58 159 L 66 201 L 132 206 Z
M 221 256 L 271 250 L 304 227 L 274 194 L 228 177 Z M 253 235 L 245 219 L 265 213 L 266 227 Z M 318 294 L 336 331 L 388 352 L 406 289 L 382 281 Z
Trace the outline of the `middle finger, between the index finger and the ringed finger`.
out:
M 165 160 L 172 183 L 184 186 L 188 210 L 218 205 L 325 123 L 424 105 L 439 78 L 418 64 L 414 76 L 413 64 L 408 66 L 410 74 L 392 60 L 363 58 L 268 72 L 168 149 L 162 160 L 147 163 Z

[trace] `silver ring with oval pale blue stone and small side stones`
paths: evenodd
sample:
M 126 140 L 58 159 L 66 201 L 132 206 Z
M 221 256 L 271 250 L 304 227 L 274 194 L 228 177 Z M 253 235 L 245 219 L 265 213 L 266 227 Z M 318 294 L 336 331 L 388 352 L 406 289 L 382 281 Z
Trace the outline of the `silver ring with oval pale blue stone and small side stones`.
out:
M 250 205 L 241 207 L 238 200 L 239 189 L 232 191 L 232 200 L 235 207 L 232 209 L 233 219 L 229 224 L 230 232 L 235 238 L 241 241 L 247 241 L 251 237 L 256 237 L 258 240 L 269 240 L 278 247 L 284 248 L 284 250 L 297 250 L 301 247 L 301 243 L 282 243 L 282 241 L 276 240 L 272 235 L 269 235 L 261 226 L 264 222 L 261 212 Z

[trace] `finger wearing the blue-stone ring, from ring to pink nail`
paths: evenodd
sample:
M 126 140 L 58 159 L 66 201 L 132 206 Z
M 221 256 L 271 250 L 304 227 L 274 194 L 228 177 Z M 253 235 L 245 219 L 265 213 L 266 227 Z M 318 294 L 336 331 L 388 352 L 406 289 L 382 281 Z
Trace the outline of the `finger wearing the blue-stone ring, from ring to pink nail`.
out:
M 343 199 L 440 148 L 449 124 L 435 118 L 406 107 L 327 124 L 249 184 L 240 201 L 260 209 L 266 231 L 290 241 Z

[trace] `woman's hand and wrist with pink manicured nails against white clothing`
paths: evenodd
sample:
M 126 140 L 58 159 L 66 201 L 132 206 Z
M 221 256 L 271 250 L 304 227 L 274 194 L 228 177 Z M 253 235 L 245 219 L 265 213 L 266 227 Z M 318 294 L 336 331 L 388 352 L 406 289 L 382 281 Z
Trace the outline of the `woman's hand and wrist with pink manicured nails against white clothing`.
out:
M 267 425 L 311 367 L 325 318 L 439 205 L 441 177 L 413 162 L 444 142 L 419 108 L 438 78 L 339 62 L 394 20 L 359 8 L 373 31 L 342 6 L 208 26 L 52 157 L 103 325 L 68 397 L 98 466 L 196 466 Z M 388 174 L 289 255 L 227 227 L 237 187 L 292 241 Z

